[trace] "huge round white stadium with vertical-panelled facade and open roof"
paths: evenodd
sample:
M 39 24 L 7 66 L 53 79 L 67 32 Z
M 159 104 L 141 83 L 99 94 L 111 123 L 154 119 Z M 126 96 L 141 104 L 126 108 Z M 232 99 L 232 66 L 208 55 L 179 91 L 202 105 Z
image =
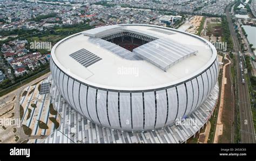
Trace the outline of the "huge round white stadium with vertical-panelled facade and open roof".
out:
M 53 46 L 51 57 L 52 79 L 65 102 L 87 120 L 122 131 L 161 129 L 192 115 L 219 72 L 207 40 L 143 24 L 73 34 Z

